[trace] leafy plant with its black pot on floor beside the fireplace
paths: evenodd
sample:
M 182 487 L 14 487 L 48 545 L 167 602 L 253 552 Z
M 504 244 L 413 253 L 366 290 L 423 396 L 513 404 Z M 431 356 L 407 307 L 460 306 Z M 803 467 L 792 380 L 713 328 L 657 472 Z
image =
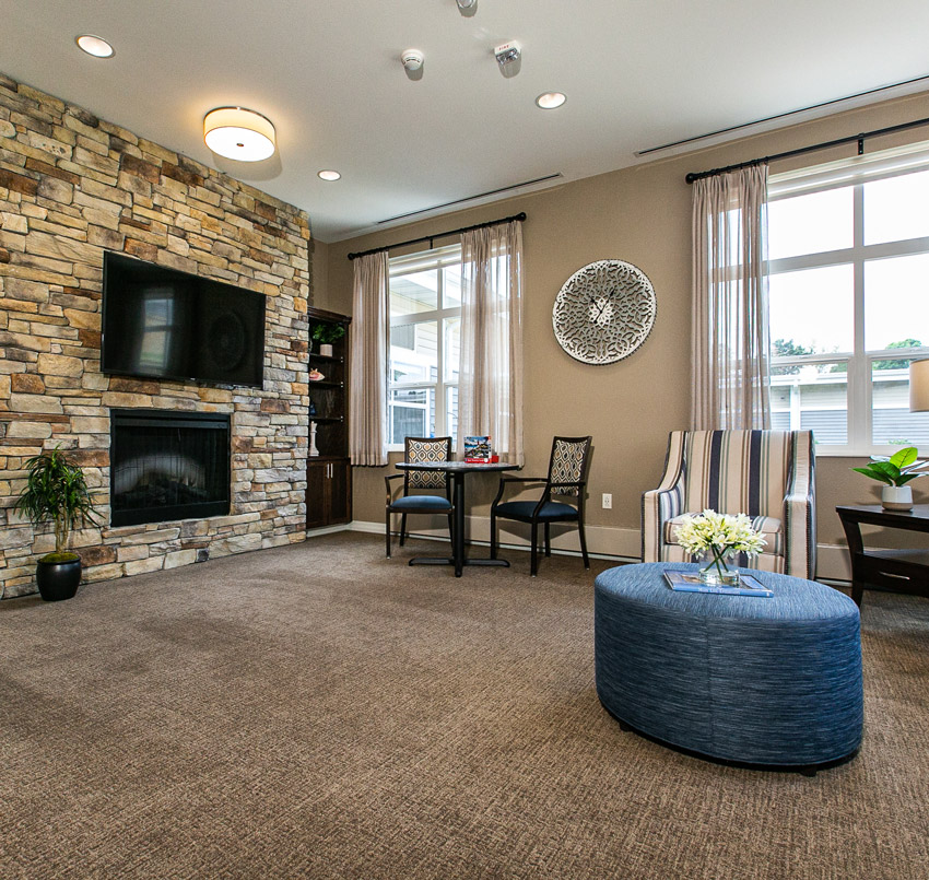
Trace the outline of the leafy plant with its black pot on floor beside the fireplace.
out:
M 31 458 L 26 470 L 26 486 L 13 509 L 33 527 L 55 525 L 55 552 L 36 566 L 38 591 L 49 602 L 70 599 L 81 583 L 81 558 L 68 551 L 68 539 L 73 526 L 95 520 L 84 472 L 57 448 Z

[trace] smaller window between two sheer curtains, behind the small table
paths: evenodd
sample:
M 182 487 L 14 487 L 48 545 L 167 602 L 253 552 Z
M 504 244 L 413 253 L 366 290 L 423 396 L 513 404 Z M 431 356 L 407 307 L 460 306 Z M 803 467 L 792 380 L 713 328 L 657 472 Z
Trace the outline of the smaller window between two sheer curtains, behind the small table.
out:
M 455 436 L 461 330 L 461 247 L 390 260 L 388 448 Z

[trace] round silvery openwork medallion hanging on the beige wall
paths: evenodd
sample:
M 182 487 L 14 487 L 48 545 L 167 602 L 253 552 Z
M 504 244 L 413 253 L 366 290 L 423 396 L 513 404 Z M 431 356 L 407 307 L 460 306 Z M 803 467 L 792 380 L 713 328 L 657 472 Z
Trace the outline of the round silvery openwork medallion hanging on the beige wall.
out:
M 598 260 L 558 291 L 552 326 L 558 344 L 585 364 L 628 357 L 651 332 L 657 305 L 648 277 L 631 262 Z

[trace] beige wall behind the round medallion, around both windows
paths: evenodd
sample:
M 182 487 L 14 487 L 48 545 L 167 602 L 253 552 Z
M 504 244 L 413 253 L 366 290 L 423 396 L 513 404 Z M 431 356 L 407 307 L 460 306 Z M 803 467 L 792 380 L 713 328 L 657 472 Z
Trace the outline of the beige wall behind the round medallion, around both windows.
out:
M 608 529 L 637 530 L 639 498 L 658 484 L 668 432 L 689 423 L 691 187 L 685 174 L 925 117 L 927 97 L 929 94 L 885 102 L 683 157 L 331 244 L 328 285 L 325 295 L 317 291 L 315 304 L 351 312 L 350 251 L 526 211 L 526 472 L 544 472 L 553 434 L 591 434 L 595 455 L 588 521 Z M 929 129 L 916 129 L 895 139 L 869 141 L 868 149 L 927 137 Z M 854 150 L 849 144 L 793 163 L 825 162 L 851 155 Z M 773 166 L 774 171 L 787 167 L 785 162 Z M 573 272 L 608 258 L 632 262 L 651 279 L 658 317 L 645 344 L 631 357 L 610 366 L 588 366 L 573 361 L 556 343 L 552 304 Z M 843 541 L 836 504 L 878 500 L 875 484 L 849 471 L 856 464 L 848 458 L 821 458 L 818 462 L 821 544 Z M 355 469 L 355 520 L 381 520 L 385 472 L 384 468 Z M 495 485 L 490 479 L 483 485 L 473 483 L 473 514 L 486 513 Z M 925 498 L 921 486 L 916 486 L 916 494 Z M 611 511 L 600 507 L 603 492 L 613 494 Z M 605 552 L 630 552 L 631 533 L 625 532 L 624 542 L 618 542 L 622 548 Z M 601 540 L 609 535 L 601 532 Z M 826 562 L 825 568 L 830 567 L 833 571 L 821 574 L 843 574 Z

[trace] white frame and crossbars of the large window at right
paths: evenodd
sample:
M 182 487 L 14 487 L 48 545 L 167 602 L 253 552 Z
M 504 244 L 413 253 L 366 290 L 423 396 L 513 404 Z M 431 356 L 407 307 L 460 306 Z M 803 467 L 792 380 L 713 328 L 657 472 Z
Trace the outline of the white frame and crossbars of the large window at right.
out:
M 768 181 L 768 202 L 823 192 L 830 189 L 850 187 L 852 189 L 852 244 L 850 247 L 834 250 L 802 254 L 793 257 L 768 260 L 766 278 L 801 271 L 821 269 L 832 266 L 851 266 L 854 277 L 852 318 L 854 348 L 851 351 L 824 352 L 803 355 L 771 355 L 771 368 L 789 366 L 805 366 L 814 364 L 846 364 L 847 387 L 847 443 L 816 444 L 816 455 L 833 457 L 868 457 L 871 455 L 893 454 L 898 445 L 875 444 L 873 442 L 873 363 L 882 360 L 919 360 L 929 357 L 929 344 L 910 349 L 881 349 L 867 351 L 865 348 L 865 266 L 880 259 L 896 257 L 929 255 L 929 236 L 905 238 L 880 244 L 865 244 L 865 184 L 878 179 L 898 177 L 929 171 L 929 144 L 916 144 L 901 151 L 886 151 L 891 163 L 897 155 L 904 156 L 902 167 L 869 173 L 854 171 L 842 174 L 843 168 L 852 167 L 851 162 L 831 163 L 820 166 L 824 179 L 822 183 L 797 184 L 804 175 L 813 177 L 816 167 L 788 172 L 783 175 L 772 175 Z M 912 154 L 916 153 L 916 156 Z M 922 161 L 920 161 L 920 156 Z M 879 156 L 880 157 L 880 156 Z M 873 161 L 874 156 L 866 156 L 863 161 Z M 832 174 L 831 174 L 832 173 Z M 772 379 L 775 377 L 772 376 Z M 778 383 L 778 385 L 781 385 Z M 788 383 L 783 383 L 788 385 Z M 772 382 L 772 388 L 775 383 Z

